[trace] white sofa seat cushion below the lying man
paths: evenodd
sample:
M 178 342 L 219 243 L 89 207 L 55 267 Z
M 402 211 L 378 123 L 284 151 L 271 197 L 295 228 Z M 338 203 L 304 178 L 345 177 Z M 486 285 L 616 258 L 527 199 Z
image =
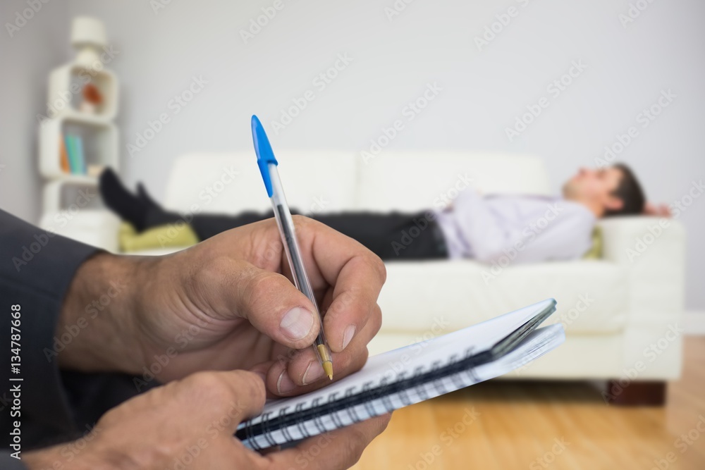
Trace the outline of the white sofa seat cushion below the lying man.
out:
M 417 334 L 465 328 L 553 297 L 567 333 L 615 333 L 627 321 L 627 270 L 581 260 L 491 266 L 466 259 L 387 263 L 379 296 L 383 330 Z

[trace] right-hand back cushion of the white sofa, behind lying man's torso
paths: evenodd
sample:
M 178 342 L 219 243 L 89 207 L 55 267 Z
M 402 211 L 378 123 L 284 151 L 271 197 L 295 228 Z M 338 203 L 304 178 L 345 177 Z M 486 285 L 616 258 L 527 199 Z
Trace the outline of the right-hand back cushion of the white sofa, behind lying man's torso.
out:
M 359 166 L 357 206 L 372 211 L 440 207 L 467 187 L 482 194 L 551 194 L 544 162 L 526 155 L 384 151 Z

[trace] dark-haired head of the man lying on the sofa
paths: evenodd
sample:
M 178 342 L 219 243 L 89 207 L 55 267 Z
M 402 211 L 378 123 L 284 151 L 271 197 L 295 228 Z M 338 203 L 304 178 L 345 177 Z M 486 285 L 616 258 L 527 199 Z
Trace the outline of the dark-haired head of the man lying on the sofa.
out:
M 642 186 L 623 163 L 600 170 L 580 168 L 563 185 L 563 196 L 586 205 L 598 217 L 641 214 L 646 202 Z

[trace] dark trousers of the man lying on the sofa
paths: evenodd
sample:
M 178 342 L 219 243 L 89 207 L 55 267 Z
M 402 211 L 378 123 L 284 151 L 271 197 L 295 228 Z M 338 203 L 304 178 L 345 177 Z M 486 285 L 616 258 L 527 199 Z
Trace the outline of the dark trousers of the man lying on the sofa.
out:
M 296 211 L 292 211 L 296 214 Z M 168 213 L 162 212 L 160 217 Z M 190 225 L 200 240 L 231 228 L 274 217 L 274 213 L 243 212 L 237 216 L 198 214 Z M 429 212 L 402 214 L 392 212 L 341 212 L 310 216 L 344 235 L 348 235 L 374 252 L 381 259 L 446 259 L 448 250 L 443 233 L 434 215 Z M 161 223 L 176 221 L 178 214 L 169 214 Z

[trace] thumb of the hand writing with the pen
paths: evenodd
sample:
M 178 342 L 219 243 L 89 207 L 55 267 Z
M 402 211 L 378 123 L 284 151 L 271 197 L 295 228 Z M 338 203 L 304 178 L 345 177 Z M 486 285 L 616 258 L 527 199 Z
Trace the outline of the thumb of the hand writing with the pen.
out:
M 226 280 L 220 286 L 229 304 L 226 318 L 247 319 L 287 347 L 300 350 L 313 344 L 320 320 L 312 302 L 288 278 L 241 260 L 231 264 L 230 272 L 232 283 Z

